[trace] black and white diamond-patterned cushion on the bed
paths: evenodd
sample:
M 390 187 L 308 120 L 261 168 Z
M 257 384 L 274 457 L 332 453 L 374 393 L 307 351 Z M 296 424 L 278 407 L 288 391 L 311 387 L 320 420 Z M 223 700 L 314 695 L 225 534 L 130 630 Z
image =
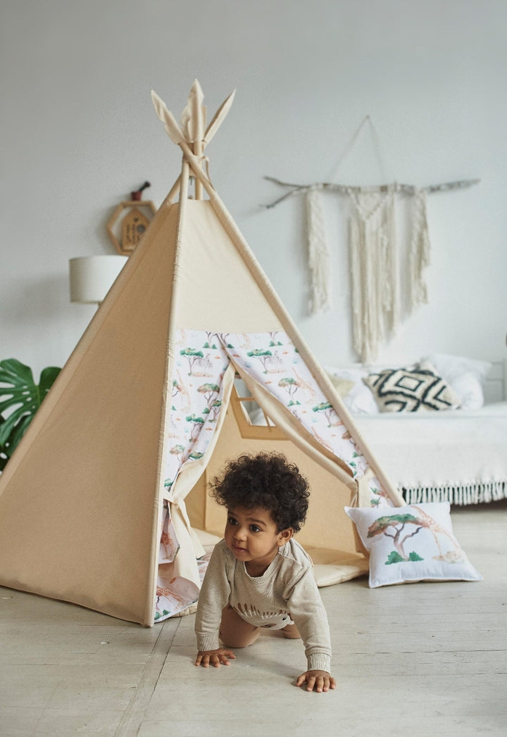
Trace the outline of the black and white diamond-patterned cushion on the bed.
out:
M 460 401 L 430 363 L 386 368 L 363 382 L 371 389 L 381 412 L 424 412 L 458 408 Z

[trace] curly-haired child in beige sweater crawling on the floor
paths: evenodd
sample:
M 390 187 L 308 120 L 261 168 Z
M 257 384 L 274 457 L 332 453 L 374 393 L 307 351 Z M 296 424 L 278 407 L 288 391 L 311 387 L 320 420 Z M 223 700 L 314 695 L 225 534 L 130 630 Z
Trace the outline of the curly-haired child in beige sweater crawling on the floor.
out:
M 307 515 L 306 479 L 283 455 L 240 455 L 214 478 L 211 495 L 227 509 L 227 523 L 197 603 L 195 665 L 230 665 L 229 648 L 248 647 L 269 627 L 304 642 L 308 669 L 296 685 L 335 688 L 326 610 L 312 562 L 293 537 Z

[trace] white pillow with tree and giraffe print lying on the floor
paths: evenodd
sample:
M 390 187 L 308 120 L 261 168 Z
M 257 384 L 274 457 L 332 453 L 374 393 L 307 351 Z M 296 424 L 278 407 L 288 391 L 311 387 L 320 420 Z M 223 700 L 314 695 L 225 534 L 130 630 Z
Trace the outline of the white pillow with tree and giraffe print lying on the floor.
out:
M 345 511 L 370 551 L 370 588 L 408 581 L 482 580 L 452 534 L 449 502 Z

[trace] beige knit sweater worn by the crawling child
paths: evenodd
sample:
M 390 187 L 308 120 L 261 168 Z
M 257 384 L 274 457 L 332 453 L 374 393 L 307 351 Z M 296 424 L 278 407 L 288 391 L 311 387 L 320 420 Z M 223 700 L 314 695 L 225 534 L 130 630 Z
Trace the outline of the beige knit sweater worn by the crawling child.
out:
M 328 671 L 331 642 L 326 609 L 312 572 L 312 562 L 295 539 L 279 548 L 262 576 L 249 576 L 225 545 L 215 545 L 197 602 L 197 649 L 220 647 L 222 609 L 230 604 L 246 621 L 282 629 L 294 621 L 304 642 L 308 670 Z

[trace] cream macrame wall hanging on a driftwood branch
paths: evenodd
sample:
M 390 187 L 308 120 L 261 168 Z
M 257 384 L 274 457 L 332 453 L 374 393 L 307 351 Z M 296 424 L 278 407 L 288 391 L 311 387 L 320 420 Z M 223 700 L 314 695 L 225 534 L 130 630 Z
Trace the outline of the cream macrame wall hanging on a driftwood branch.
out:
M 347 145 L 333 174 L 349 154 L 360 131 L 368 123 L 382 168 L 380 139 L 367 115 Z M 391 178 L 391 176 L 390 176 Z M 399 321 L 419 304 L 427 302 L 424 270 L 430 263 L 430 237 L 427 224 L 427 195 L 477 184 L 478 179 L 416 187 L 398 184 L 348 186 L 332 182 L 290 184 L 273 177 L 269 181 L 290 191 L 267 205 L 275 207 L 293 195 L 306 195 L 308 266 L 310 270 L 310 314 L 329 309 L 330 270 L 321 192 L 345 195 L 349 209 L 349 268 L 352 299 L 352 341 L 357 357 L 369 363 L 377 357 L 381 343 L 394 335 Z M 396 237 L 396 206 L 404 200 L 409 236 L 399 243 Z M 408 200 L 408 201 L 407 201 Z M 405 253 L 402 253 L 402 249 Z M 402 268 L 407 273 L 402 273 Z M 408 283 L 408 301 L 403 304 L 400 284 Z

